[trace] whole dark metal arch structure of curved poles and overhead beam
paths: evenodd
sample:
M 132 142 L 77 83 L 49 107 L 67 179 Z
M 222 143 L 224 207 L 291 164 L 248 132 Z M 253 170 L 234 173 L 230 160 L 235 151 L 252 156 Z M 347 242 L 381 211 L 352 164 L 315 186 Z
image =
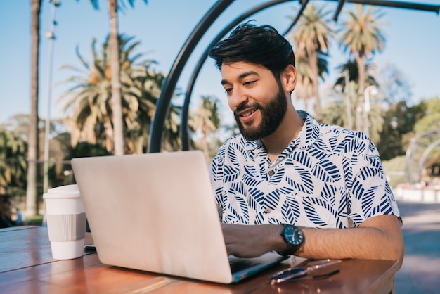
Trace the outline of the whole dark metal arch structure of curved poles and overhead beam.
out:
M 162 132 L 164 129 L 165 120 L 169 111 L 169 106 L 172 98 L 172 94 L 174 93 L 174 90 L 176 89 L 177 81 L 179 80 L 179 77 L 181 75 L 181 72 L 183 68 L 185 67 L 186 63 L 188 62 L 188 58 L 190 57 L 191 53 L 195 49 L 195 46 L 197 46 L 198 41 L 203 37 L 205 32 L 209 29 L 209 27 L 214 23 L 214 21 L 223 13 L 228 6 L 230 6 L 233 3 L 234 0 L 218 0 L 216 3 L 207 11 L 207 13 L 203 16 L 202 20 L 196 25 L 193 32 L 191 32 L 188 39 L 186 39 L 185 43 L 183 44 L 181 50 L 179 51 L 179 54 L 176 57 L 176 60 L 174 60 L 174 63 L 172 65 L 172 68 L 169 71 L 169 74 L 167 75 L 167 78 L 164 81 L 164 84 L 162 84 L 161 94 L 159 99 L 156 103 L 156 111 L 155 115 L 153 117 L 153 122 L 151 124 L 150 129 L 150 139 L 148 142 L 148 153 L 155 153 L 161 151 L 161 143 L 162 143 Z M 193 75 L 190 79 L 190 82 L 188 84 L 188 90 L 186 91 L 186 97 L 185 102 L 183 106 L 183 113 L 182 113 L 182 124 L 181 127 L 184 125 L 184 129 L 181 129 L 181 135 L 182 135 L 182 142 L 185 142 L 185 148 L 188 149 L 188 129 L 187 129 L 187 122 L 188 122 L 188 108 L 189 108 L 189 102 L 190 102 L 190 96 L 193 91 L 193 86 L 195 83 L 195 79 L 198 76 L 198 73 L 200 72 L 202 68 L 202 64 L 205 62 L 207 58 L 207 53 L 209 52 L 209 49 L 216 44 L 216 41 L 219 41 L 224 34 L 226 34 L 229 30 L 231 30 L 235 25 L 238 25 L 240 21 L 245 20 L 245 18 L 249 17 L 250 15 L 257 13 L 258 11 L 264 10 L 265 8 L 287 2 L 287 1 L 295 1 L 295 0 L 272 0 L 267 1 L 266 4 L 261 4 L 260 6 L 251 9 L 250 11 L 247 11 L 246 13 L 243 13 L 238 18 L 233 20 L 229 25 L 227 25 L 224 30 L 219 33 L 211 44 L 207 47 L 205 52 L 203 53 L 202 57 L 200 58 L 195 71 L 193 72 Z M 292 27 L 297 23 L 297 20 L 301 17 L 304 8 L 306 8 L 306 5 L 309 3 L 309 0 L 298 0 L 302 6 L 298 12 L 297 18 L 292 22 L 292 25 L 285 31 L 285 34 L 289 32 Z M 410 3 L 410 2 L 402 2 L 402 1 L 383 1 L 383 0 L 326 0 L 326 1 L 334 1 L 338 2 L 337 10 L 335 12 L 335 15 L 333 17 L 333 20 L 337 20 L 337 17 L 342 11 L 342 7 L 345 3 L 353 3 L 353 4 L 367 4 L 367 5 L 373 5 L 373 6 L 386 6 L 386 7 L 394 7 L 394 8 L 406 8 L 406 9 L 412 9 L 412 10 L 418 10 L 418 11 L 431 11 L 436 12 L 437 15 L 440 11 L 440 5 L 432 5 L 432 4 L 417 4 L 417 3 Z M 185 149 L 184 148 L 184 149 Z

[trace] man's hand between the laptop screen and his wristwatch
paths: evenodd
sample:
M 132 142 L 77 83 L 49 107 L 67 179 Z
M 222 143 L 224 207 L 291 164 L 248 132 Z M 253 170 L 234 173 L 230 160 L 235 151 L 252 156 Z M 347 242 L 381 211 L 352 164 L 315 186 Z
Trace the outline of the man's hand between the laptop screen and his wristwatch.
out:
M 272 250 L 285 250 L 283 226 L 275 224 L 221 224 L 228 255 L 257 257 Z

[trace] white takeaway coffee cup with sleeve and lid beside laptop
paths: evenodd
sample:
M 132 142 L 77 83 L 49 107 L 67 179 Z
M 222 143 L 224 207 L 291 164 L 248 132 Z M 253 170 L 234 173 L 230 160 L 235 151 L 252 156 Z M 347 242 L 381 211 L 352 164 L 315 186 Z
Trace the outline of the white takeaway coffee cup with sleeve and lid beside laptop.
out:
M 48 189 L 43 198 L 52 257 L 70 260 L 84 254 L 86 214 L 77 185 Z

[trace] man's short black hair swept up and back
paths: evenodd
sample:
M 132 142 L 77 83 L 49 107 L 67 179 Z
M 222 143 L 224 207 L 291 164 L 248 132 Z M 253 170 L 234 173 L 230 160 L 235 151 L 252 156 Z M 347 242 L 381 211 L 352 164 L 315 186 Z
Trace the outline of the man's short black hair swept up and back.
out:
M 221 70 L 223 63 L 243 61 L 263 65 L 276 79 L 287 65 L 295 66 L 292 45 L 271 25 L 239 25 L 228 38 L 219 41 L 210 51 L 209 57 Z

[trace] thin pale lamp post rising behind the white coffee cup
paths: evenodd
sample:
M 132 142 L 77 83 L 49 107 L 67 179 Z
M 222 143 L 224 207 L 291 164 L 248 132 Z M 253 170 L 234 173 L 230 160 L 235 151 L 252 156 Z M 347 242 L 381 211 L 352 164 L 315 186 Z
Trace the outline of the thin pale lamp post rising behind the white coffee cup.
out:
M 49 133 L 51 131 L 51 103 L 52 103 L 52 68 L 53 68 L 53 44 L 55 41 L 55 8 L 60 6 L 60 1 L 49 0 L 51 2 L 51 30 L 46 31 L 46 38 L 50 39 L 49 46 L 49 65 L 48 65 L 48 94 L 47 94 L 47 116 L 44 129 L 44 177 L 43 177 L 43 193 L 48 188 L 48 170 L 49 170 Z

